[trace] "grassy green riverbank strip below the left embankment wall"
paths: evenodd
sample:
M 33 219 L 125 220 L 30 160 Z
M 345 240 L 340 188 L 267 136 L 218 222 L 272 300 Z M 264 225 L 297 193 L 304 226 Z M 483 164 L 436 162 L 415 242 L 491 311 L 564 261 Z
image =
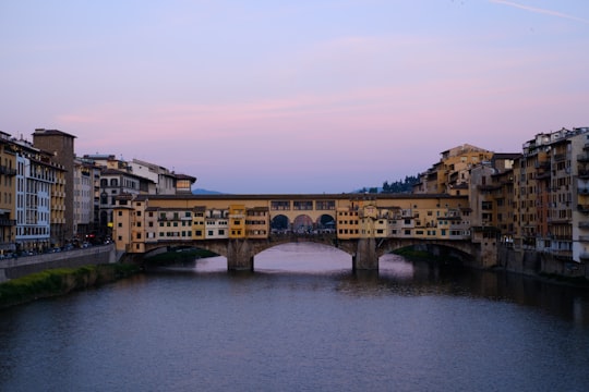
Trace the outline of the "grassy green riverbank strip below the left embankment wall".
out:
M 99 286 L 141 271 L 129 264 L 92 265 L 77 268 L 48 269 L 0 283 L 0 309 L 39 298 Z

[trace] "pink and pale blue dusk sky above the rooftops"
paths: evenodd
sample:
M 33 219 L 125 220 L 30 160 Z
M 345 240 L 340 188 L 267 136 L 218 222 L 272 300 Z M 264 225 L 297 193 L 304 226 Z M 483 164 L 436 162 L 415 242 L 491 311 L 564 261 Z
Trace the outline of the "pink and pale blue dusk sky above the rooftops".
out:
M 0 130 L 337 194 L 589 126 L 587 0 L 2 0 Z

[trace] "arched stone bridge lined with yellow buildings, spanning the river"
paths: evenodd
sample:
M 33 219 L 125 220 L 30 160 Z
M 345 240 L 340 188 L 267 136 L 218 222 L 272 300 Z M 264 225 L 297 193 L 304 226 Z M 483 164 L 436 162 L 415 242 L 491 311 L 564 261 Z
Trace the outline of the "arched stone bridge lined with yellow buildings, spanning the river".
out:
M 383 254 L 416 245 L 494 265 L 495 247 L 470 233 L 469 212 L 466 196 L 448 195 L 124 195 L 112 238 L 135 260 L 190 246 L 227 257 L 229 270 L 253 270 L 256 254 L 303 241 L 348 253 L 359 270 L 378 269 Z

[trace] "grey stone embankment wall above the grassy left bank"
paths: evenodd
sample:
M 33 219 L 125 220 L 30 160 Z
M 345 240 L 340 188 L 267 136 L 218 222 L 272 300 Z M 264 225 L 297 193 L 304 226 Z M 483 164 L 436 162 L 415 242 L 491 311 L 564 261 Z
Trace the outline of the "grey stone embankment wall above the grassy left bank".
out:
M 0 260 L 0 282 L 53 268 L 75 268 L 116 262 L 115 245 L 93 246 L 45 255 Z

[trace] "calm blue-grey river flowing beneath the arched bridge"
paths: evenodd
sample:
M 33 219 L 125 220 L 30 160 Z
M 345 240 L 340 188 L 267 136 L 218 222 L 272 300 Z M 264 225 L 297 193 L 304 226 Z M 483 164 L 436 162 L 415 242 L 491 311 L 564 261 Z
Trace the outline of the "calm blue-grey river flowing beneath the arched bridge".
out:
M 287 244 L 0 311 L 0 391 L 587 391 L 589 292 Z

